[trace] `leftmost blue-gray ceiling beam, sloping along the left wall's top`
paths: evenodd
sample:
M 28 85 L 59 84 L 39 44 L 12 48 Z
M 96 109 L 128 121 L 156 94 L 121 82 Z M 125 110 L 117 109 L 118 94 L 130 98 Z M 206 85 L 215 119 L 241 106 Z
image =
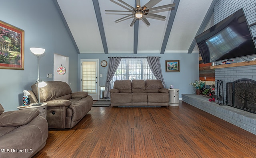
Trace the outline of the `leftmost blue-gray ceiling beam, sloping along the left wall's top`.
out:
M 66 19 L 64 18 L 64 15 L 63 15 L 63 13 L 62 13 L 62 11 L 60 9 L 60 6 L 59 6 L 57 0 L 53 0 L 53 2 L 54 2 L 54 5 L 55 5 L 58 13 L 60 14 L 60 18 L 61 18 L 62 22 L 64 23 L 64 26 L 65 26 L 65 28 L 66 28 L 66 30 L 68 32 L 68 35 L 69 35 L 69 37 L 70 37 L 70 39 L 71 39 L 71 41 L 72 41 L 72 43 L 73 43 L 73 45 L 74 45 L 74 47 L 76 49 L 77 54 L 80 54 L 80 51 L 79 51 L 79 49 L 78 49 L 78 47 L 76 45 L 76 41 L 75 41 L 75 39 L 74 39 L 74 37 L 73 37 L 69 27 L 68 27 L 68 23 L 67 23 Z

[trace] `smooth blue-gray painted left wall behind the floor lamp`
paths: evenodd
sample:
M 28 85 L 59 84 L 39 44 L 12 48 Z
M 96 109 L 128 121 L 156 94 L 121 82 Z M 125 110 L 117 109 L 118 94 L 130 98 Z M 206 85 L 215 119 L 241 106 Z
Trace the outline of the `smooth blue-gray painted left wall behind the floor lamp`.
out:
M 78 90 L 78 54 L 52 0 L 1 0 L 0 20 L 25 32 L 24 70 L 0 69 L 0 103 L 5 111 L 17 110 L 22 104 L 23 90 L 37 79 L 37 58 L 30 47 L 45 48 L 40 57 L 40 77 L 53 74 L 53 53 L 69 57 L 69 82 Z

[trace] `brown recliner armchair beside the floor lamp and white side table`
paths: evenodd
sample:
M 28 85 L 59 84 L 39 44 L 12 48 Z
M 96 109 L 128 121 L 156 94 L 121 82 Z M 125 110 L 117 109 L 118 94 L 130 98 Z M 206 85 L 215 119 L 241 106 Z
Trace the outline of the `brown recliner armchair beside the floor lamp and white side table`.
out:
M 87 92 L 72 92 L 70 86 L 62 81 L 48 81 L 40 88 L 40 102 L 47 103 L 46 118 L 49 128 L 72 128 L 88 113 L 93 99 Z M 38 87 L 31 86 L 31 103 L 37 102 Z

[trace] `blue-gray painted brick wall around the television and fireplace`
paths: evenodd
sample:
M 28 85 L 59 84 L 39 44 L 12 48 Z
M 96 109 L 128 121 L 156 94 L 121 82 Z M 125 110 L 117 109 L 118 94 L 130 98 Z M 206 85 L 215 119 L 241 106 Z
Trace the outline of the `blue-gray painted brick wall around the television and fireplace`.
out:
M 254 23 L 256 21 L 255 0 L 218 0 L 214 6 L 214 24 L 220 22 L 241 8 L 244 10 L 249 25 Z M 256 37 L 256 25 L 250 27 L 250 29 L 253 37 Z M 233 62 L 251 60 L 255 57 L 256 55 L 243 57 L 243 59 L 235 58 Z M 221 61 L 216 62 L 216 64 L 221 64 Z M 240 78 L 256 80 L 256 65 L 215 69 L 215 81 L 222 80 L 223 82 L 224 101 L 226 101 L 226 83 L 233 82 Z

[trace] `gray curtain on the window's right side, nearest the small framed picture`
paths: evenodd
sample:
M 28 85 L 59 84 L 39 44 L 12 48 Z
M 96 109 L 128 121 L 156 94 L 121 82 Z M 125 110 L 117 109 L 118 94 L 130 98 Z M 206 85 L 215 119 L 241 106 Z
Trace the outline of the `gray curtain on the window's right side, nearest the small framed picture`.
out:
M 158 79 L 161 80 L 164 87 L 165 87 L 165 82 L 164 82 L 164 77 L 162 74 L 162 68 L 160 64 L 160 57 L 147 57 L 148 60 L 148 65 L 154 74 L 154 76 Z

